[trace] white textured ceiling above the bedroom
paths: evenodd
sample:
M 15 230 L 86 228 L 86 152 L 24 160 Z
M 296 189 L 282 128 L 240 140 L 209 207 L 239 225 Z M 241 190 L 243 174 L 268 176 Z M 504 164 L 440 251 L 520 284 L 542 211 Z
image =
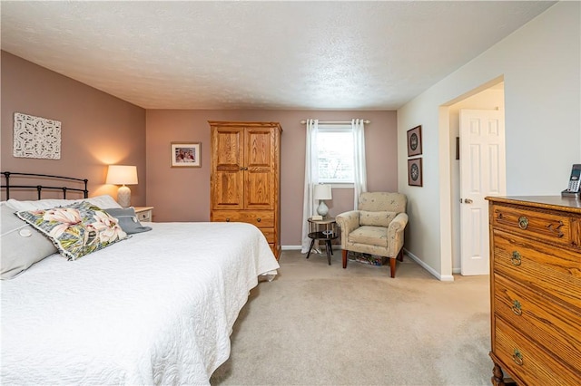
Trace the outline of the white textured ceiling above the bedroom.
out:
M 394 110 L 555 2 L 7 2 L 2 49 L 146 109 Z

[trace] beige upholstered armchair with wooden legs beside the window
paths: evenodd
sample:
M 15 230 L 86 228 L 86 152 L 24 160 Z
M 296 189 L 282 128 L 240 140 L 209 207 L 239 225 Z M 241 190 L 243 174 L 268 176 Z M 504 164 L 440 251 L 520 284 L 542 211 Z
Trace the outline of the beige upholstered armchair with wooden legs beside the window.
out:
M 359 196 L 359 210 L 336 217 L 341 229 L 343 268 L 347 252 L 389 257 L 391 277 L 396 276 L 396 258 L 403 260 L 403 230 L 408 224 L 407 198 L 401 193 L 367 192 Z

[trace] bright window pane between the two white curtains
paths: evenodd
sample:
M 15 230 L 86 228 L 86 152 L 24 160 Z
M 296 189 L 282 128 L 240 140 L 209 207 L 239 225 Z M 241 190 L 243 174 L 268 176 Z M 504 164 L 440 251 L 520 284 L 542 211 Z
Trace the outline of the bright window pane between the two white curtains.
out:
M 353 132 L 350 125 L 319 127 L 317 150 L 319 182 L 353 183 Z

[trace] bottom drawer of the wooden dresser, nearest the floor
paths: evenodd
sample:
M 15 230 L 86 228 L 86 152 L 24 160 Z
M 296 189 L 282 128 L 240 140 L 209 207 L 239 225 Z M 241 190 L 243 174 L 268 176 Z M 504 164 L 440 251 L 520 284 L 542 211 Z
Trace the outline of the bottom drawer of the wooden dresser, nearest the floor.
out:
M 517 333 L 514 326 L 495 316 L 495 335 L 492 350 L 506 363 L 507 372 L 528 385 L 577 386 L 579 377 L 535 343 Z

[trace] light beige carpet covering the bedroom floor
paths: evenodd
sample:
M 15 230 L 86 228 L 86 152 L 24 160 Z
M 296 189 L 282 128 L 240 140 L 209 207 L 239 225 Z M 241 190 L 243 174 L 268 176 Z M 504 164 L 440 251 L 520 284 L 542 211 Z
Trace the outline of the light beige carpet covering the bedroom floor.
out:
M 487 276 L 440 282 L 389 265 L 284 251 L 251 291 L 212 385 L 489 385 Z

